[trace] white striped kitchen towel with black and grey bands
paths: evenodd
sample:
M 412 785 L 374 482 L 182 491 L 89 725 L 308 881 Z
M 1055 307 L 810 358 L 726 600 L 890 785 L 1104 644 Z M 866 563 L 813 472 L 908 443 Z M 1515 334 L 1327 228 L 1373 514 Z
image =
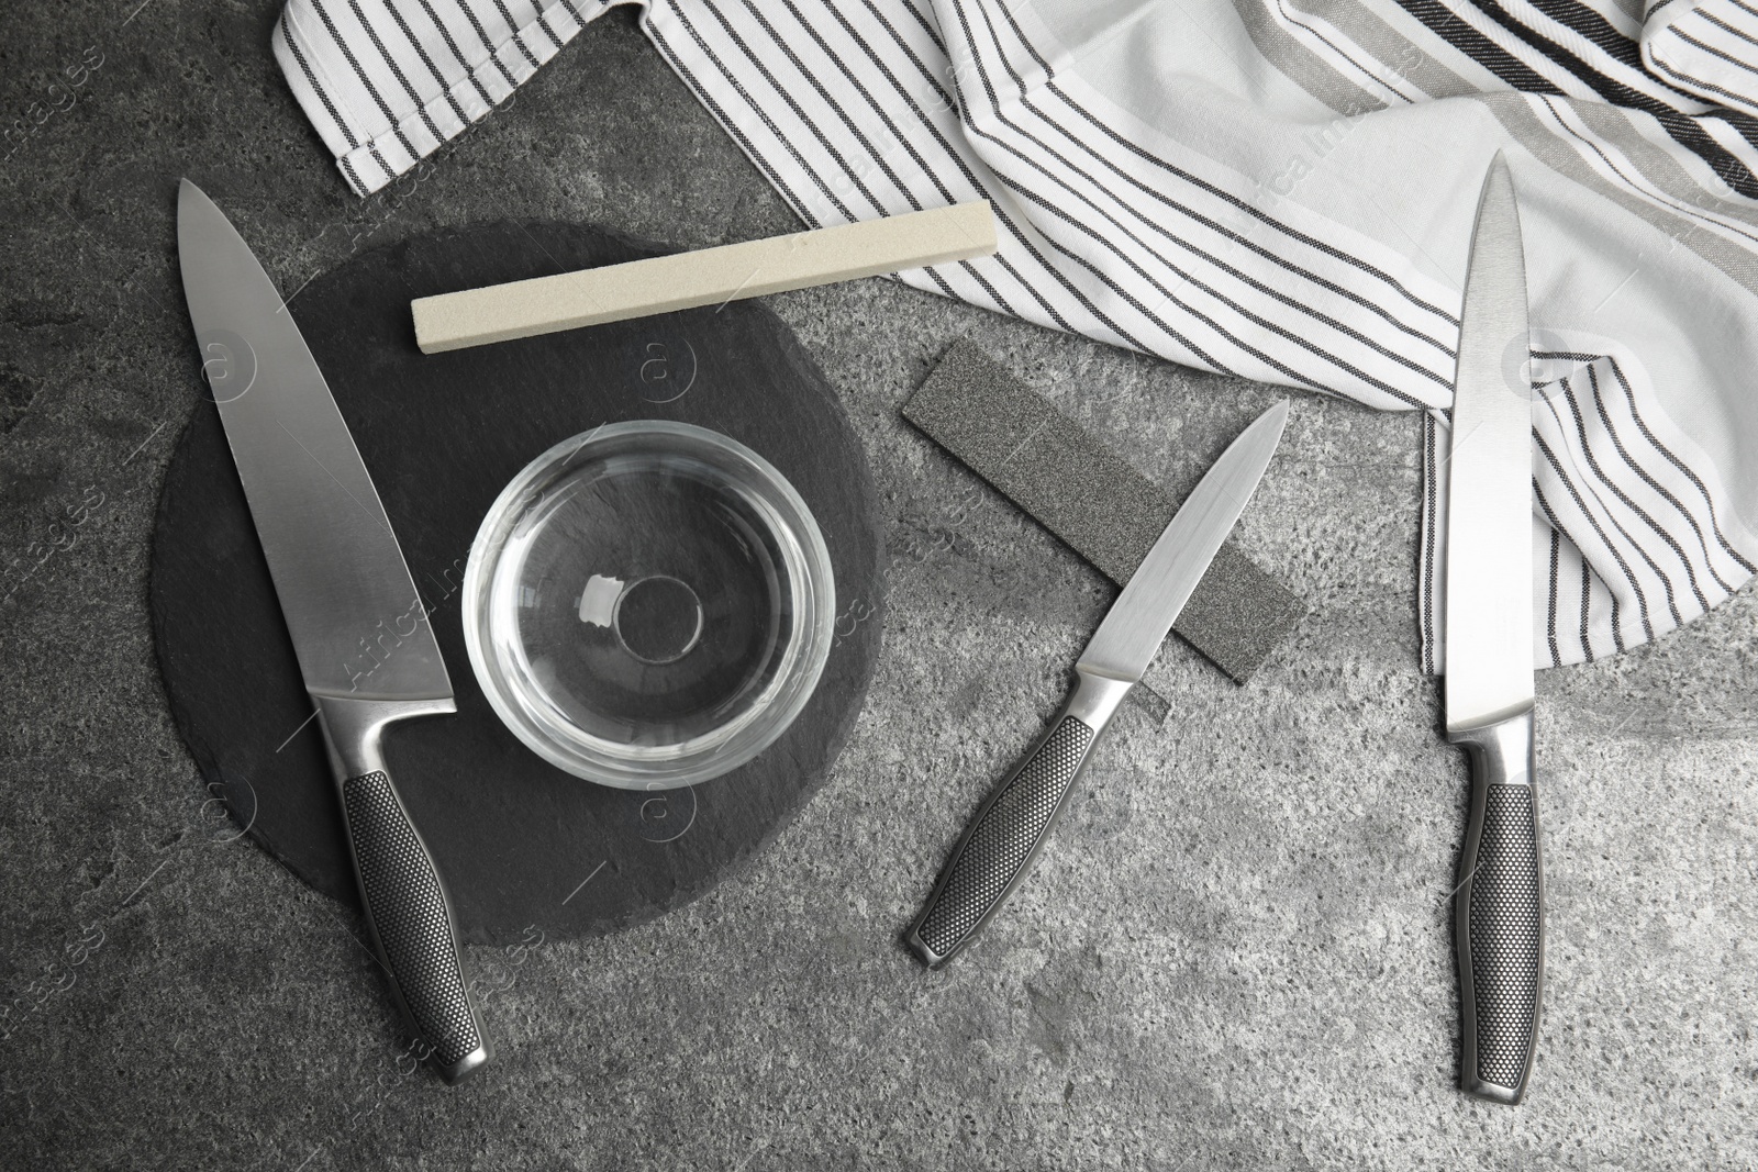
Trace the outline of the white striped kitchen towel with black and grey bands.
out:
M 292 0 L 274 53 L 366 195 L 607 7 Z M 1000 253 L 911 285 L 1426 411 L 1429 669 L 1500 149 L 1540 388 L 1538 662 L 1645 643 L 1758 564 L 1758 0 L 649 0 L 642 26 L 809 225 L 993 200 Z

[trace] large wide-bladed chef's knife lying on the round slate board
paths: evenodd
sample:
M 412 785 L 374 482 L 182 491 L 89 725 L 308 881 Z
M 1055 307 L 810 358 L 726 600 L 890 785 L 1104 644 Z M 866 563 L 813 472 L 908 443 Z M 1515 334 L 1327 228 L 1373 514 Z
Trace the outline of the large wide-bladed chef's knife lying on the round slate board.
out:
M 178 258 L 202 369 L 323 729 L 373 944 L 440 1075 L 457 1082 L 489 1061 L 489 1042 L 452 901 L 380 750 L 392 720 L 457 712 L 452 680 L 299 327 L 250 246 L 188 179 Z

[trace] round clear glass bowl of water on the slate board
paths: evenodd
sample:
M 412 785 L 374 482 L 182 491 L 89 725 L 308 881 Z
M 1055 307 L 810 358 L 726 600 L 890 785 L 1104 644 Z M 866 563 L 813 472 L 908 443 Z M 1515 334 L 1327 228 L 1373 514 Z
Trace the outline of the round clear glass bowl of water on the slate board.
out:
M 607 423 L 533 460 L 464 571 L 464 641 L 501 720 L 621 789 L 751 761 L 812 696 L 837 613 L 805 501 L 742 443 Z

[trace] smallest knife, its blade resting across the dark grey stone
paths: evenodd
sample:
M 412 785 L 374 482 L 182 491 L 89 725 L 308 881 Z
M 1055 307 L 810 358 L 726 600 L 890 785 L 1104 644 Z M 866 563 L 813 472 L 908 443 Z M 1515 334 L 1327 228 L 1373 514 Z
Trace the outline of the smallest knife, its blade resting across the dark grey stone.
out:
M 1215 552 L 1276 453 L 1287 401 L 1215 460 L 1136 568 L 1074 664 L 1074 692 L 1030 756 L 990 792 L 904 940 L 930 968 L 949 961 L 1020 886 L 1123 696 L 1153 662 Z

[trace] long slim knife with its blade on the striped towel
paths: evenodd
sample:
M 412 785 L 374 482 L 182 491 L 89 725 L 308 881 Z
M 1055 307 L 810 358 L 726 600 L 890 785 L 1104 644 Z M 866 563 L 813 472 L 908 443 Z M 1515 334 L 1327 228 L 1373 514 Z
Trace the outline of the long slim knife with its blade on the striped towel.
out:
M 1517 1103 L 1538 1047 L 1544 852 L 1533 752 L 1533 439 L 1526 258 L 1514 181 L 1484 181 L 1464 283 L 1447 471 L 1447 740 L 1471 759 L 1459 859 L 1468 1095 Z

